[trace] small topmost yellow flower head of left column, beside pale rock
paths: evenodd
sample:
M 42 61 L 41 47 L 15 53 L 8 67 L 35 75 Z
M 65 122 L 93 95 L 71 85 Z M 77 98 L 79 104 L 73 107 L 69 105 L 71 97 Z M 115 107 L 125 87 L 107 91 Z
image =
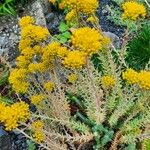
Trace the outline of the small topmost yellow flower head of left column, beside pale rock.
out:
M 34 20 L 33 17 L 31 17 L 31 16 L 25 16 L 25 17 L 22 17 L 19 20 L 19 25 L 20 25 L 21 28 L 23 28 L 23 27 L 26 27 L 29 24 L 33 24 L 34 22 L 35 22 L 35 20 Z

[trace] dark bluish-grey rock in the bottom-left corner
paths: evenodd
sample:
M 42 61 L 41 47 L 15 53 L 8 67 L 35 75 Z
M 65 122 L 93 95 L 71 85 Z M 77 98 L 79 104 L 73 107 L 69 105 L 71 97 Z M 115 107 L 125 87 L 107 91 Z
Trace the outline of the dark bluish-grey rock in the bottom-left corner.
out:
M 10 135 L 0 126 L 0 150 L 12 150 Z

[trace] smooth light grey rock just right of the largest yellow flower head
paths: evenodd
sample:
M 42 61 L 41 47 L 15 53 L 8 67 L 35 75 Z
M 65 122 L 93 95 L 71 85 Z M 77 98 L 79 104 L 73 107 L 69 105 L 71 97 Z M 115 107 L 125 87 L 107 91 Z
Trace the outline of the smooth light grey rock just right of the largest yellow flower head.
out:
M 112 32 L 103 32 L 103 34 L 111 39 L 116 48 L 120 48 L 120 38 L 116 34 Z

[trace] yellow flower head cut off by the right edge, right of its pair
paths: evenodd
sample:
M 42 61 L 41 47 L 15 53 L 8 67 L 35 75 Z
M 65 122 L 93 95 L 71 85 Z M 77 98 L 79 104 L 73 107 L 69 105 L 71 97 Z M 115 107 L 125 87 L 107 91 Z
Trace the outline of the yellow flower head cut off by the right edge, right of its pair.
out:
M 150 90 L 150 71 L 141 71 L 138 75 L 140 88 Z

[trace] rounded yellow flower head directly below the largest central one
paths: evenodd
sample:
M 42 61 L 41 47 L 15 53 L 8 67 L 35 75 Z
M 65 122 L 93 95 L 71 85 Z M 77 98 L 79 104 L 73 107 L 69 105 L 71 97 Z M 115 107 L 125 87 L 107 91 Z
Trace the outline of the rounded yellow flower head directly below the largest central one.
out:
M 82 68 L 86 63 L 86 55 L 80 51 L 70 51 L 68 55 L 64 58 L 63 64 L 68 68 Z

